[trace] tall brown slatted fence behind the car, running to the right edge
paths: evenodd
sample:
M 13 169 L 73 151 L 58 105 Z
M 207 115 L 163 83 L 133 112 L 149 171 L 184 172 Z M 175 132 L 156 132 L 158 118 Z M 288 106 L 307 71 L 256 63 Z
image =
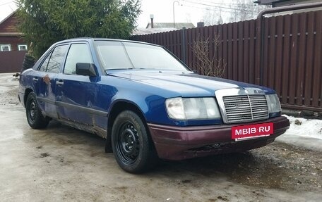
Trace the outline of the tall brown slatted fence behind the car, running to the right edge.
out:
M 225 78 L 275 89 L 284 108 L 322 111 L 322 11 L 264 18 L 261 33 L 258 24 L 247 20 L 131 39 L 165 46 L 199 72 L 193 42 L 198 36 L 213 42 L 219 34 L 217 51 L 210 43 L 209 56 L 226 63 Z

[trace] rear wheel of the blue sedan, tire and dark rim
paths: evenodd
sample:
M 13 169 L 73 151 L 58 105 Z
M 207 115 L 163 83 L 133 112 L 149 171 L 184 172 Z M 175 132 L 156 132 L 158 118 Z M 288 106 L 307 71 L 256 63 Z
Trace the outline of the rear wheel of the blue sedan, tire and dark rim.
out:
M 34 92 L 28 94 L 27 102 L 25 104 L 25 113 L 30 127 L 33 129 L 41 129 L 47 127 L 49 118 L 44 118 L 38 106 Z

